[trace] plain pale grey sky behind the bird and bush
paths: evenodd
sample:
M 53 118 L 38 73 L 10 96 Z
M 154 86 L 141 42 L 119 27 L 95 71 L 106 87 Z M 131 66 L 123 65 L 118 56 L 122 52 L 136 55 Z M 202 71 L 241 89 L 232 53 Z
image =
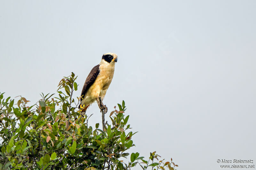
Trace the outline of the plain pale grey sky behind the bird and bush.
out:
M 156 151 L 179 170 L 255 162 L 255 9 L 254 0 L 0 0 L 0 92 L 33 104 L 73 71 L 79 96 L 113 52 L 104 103 L 111 110 L 125 100 L 139 131 L 130 152 Z M 89 113 L 101 122 L 97 104 Z

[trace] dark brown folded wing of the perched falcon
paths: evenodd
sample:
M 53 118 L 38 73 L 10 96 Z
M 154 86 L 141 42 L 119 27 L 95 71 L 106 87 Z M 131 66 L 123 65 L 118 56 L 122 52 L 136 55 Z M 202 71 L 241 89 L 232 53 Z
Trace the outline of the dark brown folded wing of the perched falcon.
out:
M 80 99 L 80 103 L 82 102 L 85 93 L 88 91 L 88 89 L 91 87 L 91 85 L 94 83 L 94 81 L 96 80 L 96 78 L 98 77 L 99 73 L 100 73 L 100 65 L 96 65 L 95 67 L 92 68 L 91 72 L 89 73 L 89 75 L 87 76 L 85 82 L 84 82 L 84 87 L 83 90 L 81 92 L 81 96 L 82 98 Z M 80 108 L 80 105 L 79 105 Z

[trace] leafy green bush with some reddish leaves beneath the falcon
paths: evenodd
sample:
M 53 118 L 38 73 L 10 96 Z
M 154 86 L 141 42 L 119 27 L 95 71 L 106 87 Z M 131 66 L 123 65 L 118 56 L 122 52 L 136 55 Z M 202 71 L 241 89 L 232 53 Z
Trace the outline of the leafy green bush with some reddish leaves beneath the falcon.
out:
M 130 169 L 140 165 L 142 169 L 172 169 L 172 162 L 158 161 L 156 152 L 149 160 L 139 153 L 128 153 L 134 146 L 125 116 L 124 101 L 110 113 L 112 124 L 106 131 L 87 126 L 90 116 L 81 115 L 73 92 L 77 90 L 77 77 L 61 79 L 58 96 L 42 93 L 42 99 L 28 106 L 28 100 L 20 96 L 14 100 L 0 93 L 0 168 L 1 169 Z M 130 155 L 130 161 L 122 159 Z M 157 161 L 155 161 L 157 160 Z M 128 161 L 128 160 L 127 160 Z M 151 163 L 152 161 L 152 163 Z M 150 162 L 150 163 L 149 163 Z M 172 166 L 173 167 L 172 167 Z

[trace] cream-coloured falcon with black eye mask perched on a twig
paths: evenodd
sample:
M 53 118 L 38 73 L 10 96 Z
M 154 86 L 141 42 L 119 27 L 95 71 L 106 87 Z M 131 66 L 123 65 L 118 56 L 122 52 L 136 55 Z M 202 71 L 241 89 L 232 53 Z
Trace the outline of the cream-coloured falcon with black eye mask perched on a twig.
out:
M 87 76 L 80 97 L 80 105 L 82 112 L 95 101 L 104 99 L 108 87 L 112 81 L 115 70 L 117 55 L 115 53 L 106 53 L 102 55 L 100 64 L 92 68 Z

